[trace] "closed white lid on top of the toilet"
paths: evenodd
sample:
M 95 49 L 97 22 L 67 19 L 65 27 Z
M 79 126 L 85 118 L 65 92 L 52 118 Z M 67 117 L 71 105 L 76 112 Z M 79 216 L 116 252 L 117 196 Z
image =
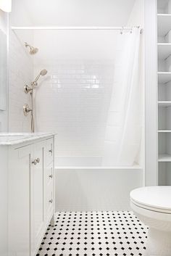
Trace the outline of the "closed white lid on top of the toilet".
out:
M 130 192 L 138 204 L 162 210 L 171 210 L 171 186 L 145 186 Z

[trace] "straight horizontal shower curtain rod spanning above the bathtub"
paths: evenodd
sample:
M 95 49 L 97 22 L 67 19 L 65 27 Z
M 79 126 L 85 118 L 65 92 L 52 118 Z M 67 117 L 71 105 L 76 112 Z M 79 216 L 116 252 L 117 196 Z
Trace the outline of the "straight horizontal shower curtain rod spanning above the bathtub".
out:
M 132 30 L 140 27 L 12 27 L 12 30 Z

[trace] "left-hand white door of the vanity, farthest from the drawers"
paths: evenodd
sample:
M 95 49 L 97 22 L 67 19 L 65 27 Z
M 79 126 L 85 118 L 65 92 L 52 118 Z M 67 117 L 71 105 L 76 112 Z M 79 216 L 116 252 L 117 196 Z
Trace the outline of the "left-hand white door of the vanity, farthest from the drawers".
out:
M 30 256 L 30 158 L 32 146 L 9 151 L 9 255 Z

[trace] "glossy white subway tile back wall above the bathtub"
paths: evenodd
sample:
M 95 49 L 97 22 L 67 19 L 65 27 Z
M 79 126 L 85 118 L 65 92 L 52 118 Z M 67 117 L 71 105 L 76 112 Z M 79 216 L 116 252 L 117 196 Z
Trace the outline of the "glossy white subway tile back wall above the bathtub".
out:
M 35 63 L 46 68 L 36 88 L 36 130 L 57 132 L 58 156 L 103 154 L 114 81 L 112 60 L 58 60 Z

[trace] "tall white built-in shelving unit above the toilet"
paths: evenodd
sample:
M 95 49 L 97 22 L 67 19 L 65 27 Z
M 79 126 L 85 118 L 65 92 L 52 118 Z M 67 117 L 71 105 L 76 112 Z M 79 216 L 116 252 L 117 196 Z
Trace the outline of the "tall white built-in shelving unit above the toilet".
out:
M 171 185 L 171 0 L 157 1 L 158 184 Z

